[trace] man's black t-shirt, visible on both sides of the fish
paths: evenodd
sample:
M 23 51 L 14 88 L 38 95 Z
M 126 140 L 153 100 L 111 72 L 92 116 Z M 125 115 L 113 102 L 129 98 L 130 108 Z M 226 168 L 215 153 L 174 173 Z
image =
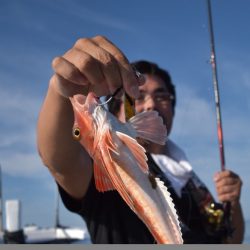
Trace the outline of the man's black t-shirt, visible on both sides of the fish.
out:
M 184 243 L 220 243 L 216 235 L 208 235 L 196 201 L 188 190 L 182 190 L 179 198 L 171 183 L 162 175 L 158 166 L 149 156 L 151 172 L 160 177 L 173 198 L 177 214 L 181 221 Z M 79 214 L 86 222 L 92 243 L 101 244 L 153 244 L 153 236 L 123 201 L 117 191 L 98 192 L 92 178 L 86 195 L 82 200 L 70 197 L 60 186 L 59 191 L 64 205 L 71 212 Z

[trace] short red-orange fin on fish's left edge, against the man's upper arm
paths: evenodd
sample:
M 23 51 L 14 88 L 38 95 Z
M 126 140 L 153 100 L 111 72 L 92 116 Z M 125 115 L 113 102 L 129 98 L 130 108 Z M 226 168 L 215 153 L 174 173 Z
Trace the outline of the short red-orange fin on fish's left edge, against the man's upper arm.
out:
M 96 189 L 99 192 L 115 190 L 109 177 L 105 174 L 105 170 L 101 169 L 96 163 L 94 163 L 94 178 Z

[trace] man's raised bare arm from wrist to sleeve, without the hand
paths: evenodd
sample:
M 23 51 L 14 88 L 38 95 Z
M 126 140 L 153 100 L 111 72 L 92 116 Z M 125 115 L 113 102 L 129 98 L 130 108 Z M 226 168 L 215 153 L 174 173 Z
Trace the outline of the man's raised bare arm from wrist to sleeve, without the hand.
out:
M 56 181 L 72 197 L 84 196 L 92 175 L 91 159 L 73 140 L 73 112 L 68 98 L 55 89 L 51 79 L 37 127 L 40 156 Z

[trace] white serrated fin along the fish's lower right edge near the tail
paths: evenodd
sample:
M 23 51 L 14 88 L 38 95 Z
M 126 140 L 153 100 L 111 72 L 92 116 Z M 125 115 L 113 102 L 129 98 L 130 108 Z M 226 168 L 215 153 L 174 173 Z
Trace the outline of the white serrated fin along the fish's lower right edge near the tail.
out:
M 170 235 L 174 237 L 172 238 L 172 244 L 183 244 L 180 222 L 173 199 L 164 183 L 159 178 L 155 178 L 155 180 L 157 183 L 157 193 L 159 197 L 165 201 L 163 204 L 165 204 L 165 210 L 167 212 L 167 224 L 169 225 Z

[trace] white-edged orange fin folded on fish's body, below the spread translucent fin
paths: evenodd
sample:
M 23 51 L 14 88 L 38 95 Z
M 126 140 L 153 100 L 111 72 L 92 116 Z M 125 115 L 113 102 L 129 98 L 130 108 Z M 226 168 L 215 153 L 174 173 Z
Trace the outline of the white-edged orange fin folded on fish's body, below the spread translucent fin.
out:
M 131 153 L 134 155 L 141 170 L 144 173 L 148 173 L 147 156 L 145 154 L 145 149 L 132 137 L 121 132 L 116 132 L 116 134 L 120 138 L 120 140 L 127 145 Z

